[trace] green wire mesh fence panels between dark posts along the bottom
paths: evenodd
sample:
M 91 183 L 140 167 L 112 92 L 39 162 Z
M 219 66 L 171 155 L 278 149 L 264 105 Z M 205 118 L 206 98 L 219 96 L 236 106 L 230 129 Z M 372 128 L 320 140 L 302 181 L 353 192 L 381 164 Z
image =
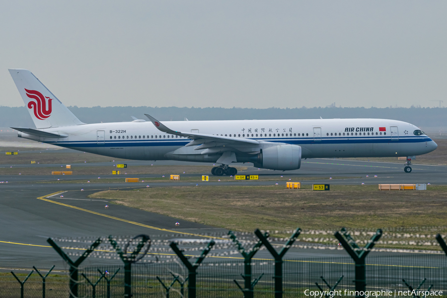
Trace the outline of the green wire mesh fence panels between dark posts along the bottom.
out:
M 444 291 L 447 293 L 447 258 L 442 254 L 413 254 L 399 256 L 371 255 L 366 262 L 367 291 L 389 290 L 406 291 L 408 286 L 416 289 L 422 281 L 421 290 Z M 118 272 L 117 272 L 118 271 Z M 107 273 L 106 273 L 107 272 Z M 16 273 L 23 281 L 29 272 Z M 124 297 L 124 268 L 122 266 L 81 267 L 92 284 L 97 283 L 93 296 L 93 287 L 84 277 L 79 278 L 78 297 L 107 298 Z M 116 273 L 115 276 L 113 276 Z M 213 262 L 207 259 L 197 271 L 198 298 L 237 298 L 244 297 L 235 281 L 243 285 L 244 265 L 240 260 Z M 342 291 L 341 296 L 352 297 L 346 291 L 354 291 L 355 264 L 350 257 L 289 259 L 283 266 L 283 297 L 309 297 L 308 291 L 318 291 L 315 283 L 323 290 L 329 290 L 322 278 L 332 287 L 342 276 L 335 290 Z M 169 263 L 142 263 L 132 267 L 132 294 L 134 298 L 143 297 L 188 297 L 188 270 L 179 261 Z M 260 278 L 259 278 L 260 277 Z M 253 260 L 252 280 L 259 278 L 253 287 L 254 297 L 275 297 L 274 261 Z M 69 297 L 67 274 L 50 274 L 46 279 L 46 298 Z M 108 282 L 109 281 L 109 282 Z M 109 283 L 109 287 L 107 284 Z M 10 273 L 0 274 L 0 297 L 20 297 L 20 284 Z M 42 279 L 37 273 L 31 274 L 24 283 L 24 297 L 41 298 Z M 323 296 L 324 297 L 324 296 Z M 396 297 L 404 297 L 397 295 Z

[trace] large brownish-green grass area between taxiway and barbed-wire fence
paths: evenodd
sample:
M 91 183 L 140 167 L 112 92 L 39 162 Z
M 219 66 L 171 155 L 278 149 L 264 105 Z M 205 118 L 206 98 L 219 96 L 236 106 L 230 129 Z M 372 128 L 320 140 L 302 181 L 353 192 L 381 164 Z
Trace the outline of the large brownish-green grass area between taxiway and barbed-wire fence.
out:
M 92 198 L 174 218 L 240 231 L 255 228 L 350 228 L 447 226 L 447 187 L 427 191 L 378 191 L 375 185 L 199 186 L 104 191 Z

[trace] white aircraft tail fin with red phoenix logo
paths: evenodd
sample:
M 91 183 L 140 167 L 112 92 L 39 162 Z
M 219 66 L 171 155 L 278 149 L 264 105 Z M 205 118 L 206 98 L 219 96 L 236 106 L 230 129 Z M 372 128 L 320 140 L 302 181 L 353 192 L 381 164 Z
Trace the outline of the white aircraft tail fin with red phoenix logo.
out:
M 37 129 L 84 124 L 30 71 L 10 69 Z

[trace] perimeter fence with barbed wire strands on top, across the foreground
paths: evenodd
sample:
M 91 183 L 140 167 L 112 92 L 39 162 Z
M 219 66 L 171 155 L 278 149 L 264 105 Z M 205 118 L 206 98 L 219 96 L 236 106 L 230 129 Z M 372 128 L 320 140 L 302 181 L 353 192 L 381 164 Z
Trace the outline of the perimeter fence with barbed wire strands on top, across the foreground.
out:
M 297 229 L 226 235 L 178 233 L 153 239 L 147 235 L 52 238 L 48 242 L 61 255 L 66 273 L 55 274 L 54 266 L 49 266 L 39 268 L 39 273 L 34 268 L 31 273 L 14 273 L 15 277 L 0 275 L 0 297 L 299 297 L 304 296 L 303 289 L 318 290 L 315 282 L 321 276 L 327 284 L 336 284 L 344 276 L 338 289 L 365 291 L 367 285 L 368 289 L 408 289 L 405 283 L 418 285 L 425 279 L 433 285 L 431 289 L 447 290 L 446 235 L 436 234 L 436 228 L 446 230 Z M 374 247 L 380 244 L 432 250 Z M 287 251 L 303 248 L 345 249 L 347 254 L 287 258 Z M 262 258 L 255 258 L 261 251 L 265 251 Z M 420 253 L 374 255 L 367 261 L 370 252 Z M 87 258 L 89 265 L 97 265 L 84 266 Z

